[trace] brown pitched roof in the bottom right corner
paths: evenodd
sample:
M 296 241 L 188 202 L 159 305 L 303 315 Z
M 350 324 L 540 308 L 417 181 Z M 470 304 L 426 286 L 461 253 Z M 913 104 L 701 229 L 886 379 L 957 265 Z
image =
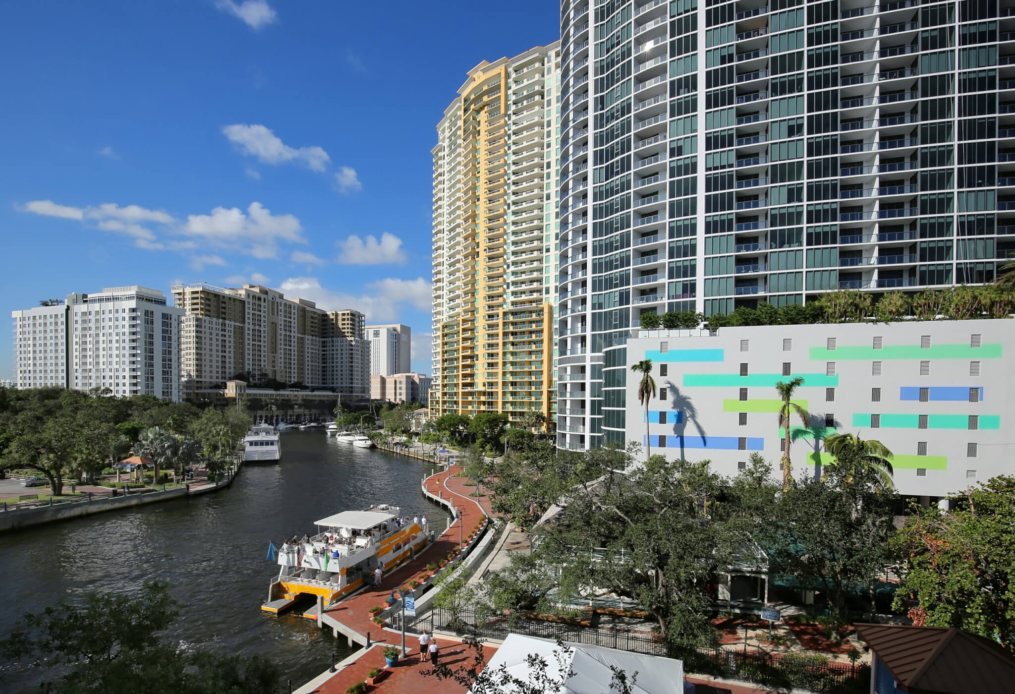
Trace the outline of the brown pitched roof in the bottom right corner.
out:
M 857 624 L 898 683 L 908 691 L 1010 694 L 1015 657 L 993 641 L 956 628 Z

